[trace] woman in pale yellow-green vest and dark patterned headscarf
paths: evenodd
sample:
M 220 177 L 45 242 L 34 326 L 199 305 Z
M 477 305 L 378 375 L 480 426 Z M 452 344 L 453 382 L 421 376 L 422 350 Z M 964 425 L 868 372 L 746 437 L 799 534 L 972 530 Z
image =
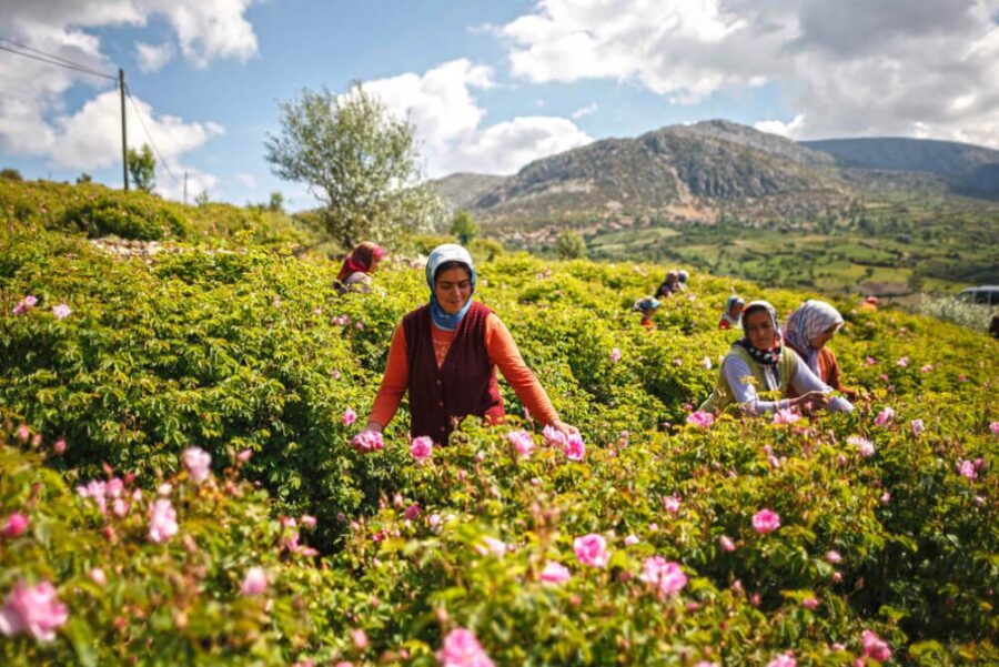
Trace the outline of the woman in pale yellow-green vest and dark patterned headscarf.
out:
M 850 412 L 854 406 L 846 398 L 829 396 L 833 391 L 803 362 L 789 346 L 784 345 L 777 312 L 766 301 L 754 301 L 743 310 L 743 332 L 722 367 L 718 384 L 700 410 L 718 414 L 737 404 L 745 414 L 758 415 L 777 410 L 805 413 L 816 407 L 833 412 Z M 788 388 L 799 395 L 788 398 Z M 779 398 L 761 401 L 759 393 L 775 392 Z

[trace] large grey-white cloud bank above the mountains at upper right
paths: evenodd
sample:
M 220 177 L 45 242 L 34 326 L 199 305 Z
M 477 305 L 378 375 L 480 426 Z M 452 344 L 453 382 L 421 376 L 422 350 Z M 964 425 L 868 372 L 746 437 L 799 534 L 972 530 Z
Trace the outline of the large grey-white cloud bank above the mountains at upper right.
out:
M 774 82 L 794 138 L 999 148 L 996 0 L 539 0 L 495 29 L 531 82 L 628 81 L 679 103 Z

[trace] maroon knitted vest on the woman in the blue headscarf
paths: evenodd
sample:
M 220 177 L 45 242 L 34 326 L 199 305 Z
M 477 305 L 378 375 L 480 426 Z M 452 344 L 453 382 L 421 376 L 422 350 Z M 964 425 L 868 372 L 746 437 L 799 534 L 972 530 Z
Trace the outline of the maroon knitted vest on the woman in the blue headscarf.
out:
M 462 317 L 441 368 L 434 356 L 428 305 L 403 317 L 410 370 L 410 434 L 447 442 L 454 424 L 466 415 L 500 421 L 505 415 L 496 366 L 485 348 L 486 317 L 492 311 L 478 302 Z

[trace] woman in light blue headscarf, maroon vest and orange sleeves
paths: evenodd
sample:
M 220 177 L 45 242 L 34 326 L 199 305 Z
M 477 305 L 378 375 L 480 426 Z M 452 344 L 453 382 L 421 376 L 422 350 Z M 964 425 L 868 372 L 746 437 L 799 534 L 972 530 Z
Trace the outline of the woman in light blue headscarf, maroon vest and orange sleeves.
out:
M 578 434 L 558 418 L 545 390 L 524 363 L 500 317 L 472 300 L 476 273 L 461 245 L 438 245 L 426 261 L 430 303 L 410 312 L 395 330 L 382 386 L 365 432 L 381 432 L 410 394 L 410 434 L 446 443 L 467 415 L 503 421 L 496 368 L 543 424 L 566 437 Z

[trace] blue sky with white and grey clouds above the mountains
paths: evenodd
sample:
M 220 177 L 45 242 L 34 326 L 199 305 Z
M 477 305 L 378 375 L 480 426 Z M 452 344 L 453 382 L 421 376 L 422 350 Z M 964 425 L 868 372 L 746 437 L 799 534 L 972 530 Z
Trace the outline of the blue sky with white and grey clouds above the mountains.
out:
M 0 0 L 0 168 L 120 188 L 119 68 L 175 200 L 186 174 L 189 200 L 313 206 L 264 141 L 281 102 L 353 81 L 426 178 L 719 118 L 999 149 L 999 0 Z

